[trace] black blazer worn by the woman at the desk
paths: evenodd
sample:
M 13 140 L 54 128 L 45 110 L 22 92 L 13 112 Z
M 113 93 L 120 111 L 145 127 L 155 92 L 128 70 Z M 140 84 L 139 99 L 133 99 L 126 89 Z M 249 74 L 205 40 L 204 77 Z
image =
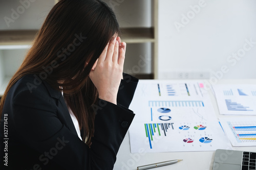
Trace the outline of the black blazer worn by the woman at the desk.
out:
M 113 169 L 134 117 L 127 108 L 138 82 L 130 75 L 123 77 L 118 105 L 99 100 L 94 107 L 90 148 L 78 138 L 60 91 L 35 75 L 18 80 L 8 92 L 1 118 L 1 169 Z M 4 136 L 4 125 L 8 125 L 8 136 Z M 4 165 L 6 153 L 8 166 Z

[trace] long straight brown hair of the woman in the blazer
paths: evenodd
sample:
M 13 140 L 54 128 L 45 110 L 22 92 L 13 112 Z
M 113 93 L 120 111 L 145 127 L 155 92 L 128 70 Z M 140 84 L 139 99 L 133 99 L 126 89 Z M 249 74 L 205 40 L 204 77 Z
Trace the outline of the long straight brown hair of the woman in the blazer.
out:
M 10 88 L 25 75 L 34 74 L 56 89 L 63 88 L 63 96 L 83 130 L 83 141 L 87 138 L 90 145 L 95 117 L 92 105 L 98 92 L 88 75 L 106 44 L 118 32 L 114 12 L 100 0 L 59 1 L 10 80 L 0 101 L 0 117 Z

